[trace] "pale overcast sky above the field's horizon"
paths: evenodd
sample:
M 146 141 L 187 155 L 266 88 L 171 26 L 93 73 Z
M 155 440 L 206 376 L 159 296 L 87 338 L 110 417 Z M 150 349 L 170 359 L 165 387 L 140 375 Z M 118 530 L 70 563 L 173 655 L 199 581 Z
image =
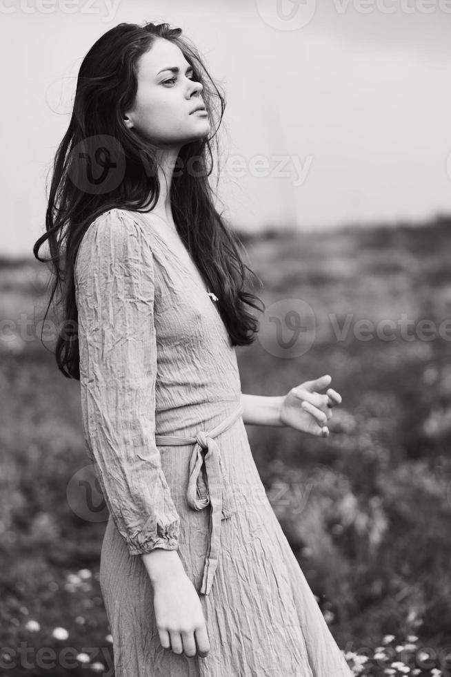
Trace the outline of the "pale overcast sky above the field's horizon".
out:
M 81 60 L 122 21 L 181 27 L 225 88 L 234 225 L 451 213 L 451 0 L 0 0 L 0 14 L 2 254 L 43 232 Z

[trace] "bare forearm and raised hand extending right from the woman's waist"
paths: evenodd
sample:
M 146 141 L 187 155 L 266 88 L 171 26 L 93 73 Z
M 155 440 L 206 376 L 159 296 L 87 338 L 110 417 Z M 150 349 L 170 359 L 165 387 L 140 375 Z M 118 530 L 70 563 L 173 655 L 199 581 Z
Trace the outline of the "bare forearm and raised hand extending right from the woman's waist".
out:
M 292 388 L 286 395 L 266 397 L 241 393 L 243 421 L 261 426 L 290 426 L 310 435 L 328 437 L 325 425 L 332 417 L 332 407 L 341 403 L 341 395 L 332 388 L 326 394 L 317 390 L 326 388 L 331 376 L 305 381 Z

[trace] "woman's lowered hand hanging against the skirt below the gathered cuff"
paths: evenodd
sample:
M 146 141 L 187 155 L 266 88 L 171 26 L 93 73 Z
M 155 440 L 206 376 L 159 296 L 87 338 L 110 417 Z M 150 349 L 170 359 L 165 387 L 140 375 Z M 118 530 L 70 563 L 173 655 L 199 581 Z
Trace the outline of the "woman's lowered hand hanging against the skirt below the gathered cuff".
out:
M 201 600 L 185 571 L 169 571 L 152 579 L 154 612 L 163 649 L 205 658 L 210 643 Z M 196 648 L 197 644 L 197 648 Z

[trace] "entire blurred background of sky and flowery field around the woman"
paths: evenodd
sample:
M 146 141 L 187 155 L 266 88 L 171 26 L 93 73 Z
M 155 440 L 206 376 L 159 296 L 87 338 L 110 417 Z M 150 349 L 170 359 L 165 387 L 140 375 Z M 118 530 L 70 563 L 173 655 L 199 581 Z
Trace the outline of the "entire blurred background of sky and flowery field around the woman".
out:
M 274 511 L 355 674 L 451 675 L 451 2 L 0 13 L 0 674 L 112 676 L 108 513 L 80 504 L 79 383 L 45 329 L 41 343 L 48 271 L 32 246 L 83 56 L 117 23 L 167 21 L 226 91 L 219 194 L 266 305 L 237 349 L 242 390 L 330 374 L 343 398 L 328 439 L 248 426 Z

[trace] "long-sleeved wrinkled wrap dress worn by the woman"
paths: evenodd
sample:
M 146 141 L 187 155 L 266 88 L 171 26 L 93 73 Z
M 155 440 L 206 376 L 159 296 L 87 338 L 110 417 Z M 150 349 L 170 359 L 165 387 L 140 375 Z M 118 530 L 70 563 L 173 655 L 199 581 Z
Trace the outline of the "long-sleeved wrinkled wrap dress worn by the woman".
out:
M 110 512 L 100 584 L 116 677 L 351 677 L 265 495 L 234 347 L 177 233 L 151 214 L 103 213 L 75 285 L 83 431 Z M 205 658 L 160 645 L 137 556 L 155 547 L 177 549 L 199 593 Z

